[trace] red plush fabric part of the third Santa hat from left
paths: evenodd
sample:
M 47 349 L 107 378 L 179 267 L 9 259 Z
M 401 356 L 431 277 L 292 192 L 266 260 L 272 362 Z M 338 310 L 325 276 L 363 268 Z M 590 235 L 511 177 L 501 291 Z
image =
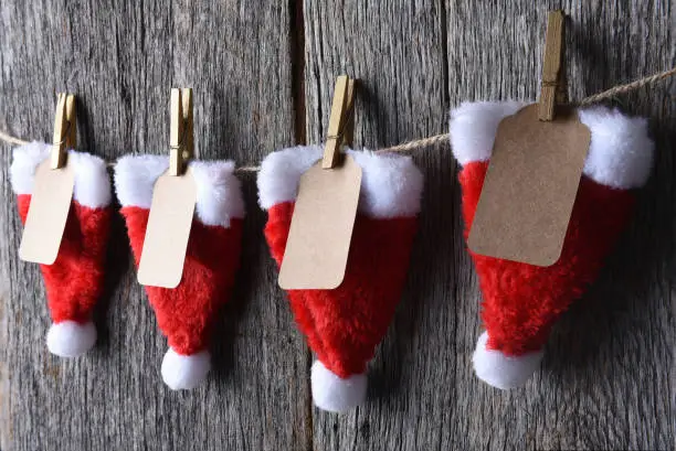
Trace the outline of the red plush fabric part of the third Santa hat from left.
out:
M 294 203 L 268 211 L 265 238 L 282 264 Z M 334 290 L 288 290 L 292 310 L 324 365 L 347 378 L 366 371 L 401 298 L 418 221 L 357 215 L 347 271 Z

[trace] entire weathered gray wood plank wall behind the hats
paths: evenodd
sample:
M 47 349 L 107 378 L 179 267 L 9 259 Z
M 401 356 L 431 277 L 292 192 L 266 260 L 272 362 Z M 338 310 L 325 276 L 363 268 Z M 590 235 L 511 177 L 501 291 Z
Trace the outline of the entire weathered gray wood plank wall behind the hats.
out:
M 676 66 L 670 0 L 6 0 L 0 129 L 50 139 L 54 95 L 68 90 L 80 96 L 81 149 L 110 160 L 163 153 L 169 88 L 190 86 L 201 157 L 250 164 L 319 142 L 335 76 L 348 73 L 362 82 L 356 143 L 387 147 L 444 132 L 462 100 L 535 98 L 550 8 L 570 14 L 573 99 Z M 118 215 L 98 345 L 75 361 L 51 356 L 39 269 L 17 257 L 11 149 L 1 144 L 0 448 L 675 449 L 675 99 L 672 80 L 616 100 L 652 118 L 654 176 L 601 279 L 556 327 L 541 371 L 509 393 L 472 372 L 479 293 L 451 150 L 416 152 L 426 186 L 408 287 L 368 402 L 342 416 L 311 406 L 311 355 L 275 283 L 253 175 L 242 269 L 204 387 L 161 383 L 166 343 Z

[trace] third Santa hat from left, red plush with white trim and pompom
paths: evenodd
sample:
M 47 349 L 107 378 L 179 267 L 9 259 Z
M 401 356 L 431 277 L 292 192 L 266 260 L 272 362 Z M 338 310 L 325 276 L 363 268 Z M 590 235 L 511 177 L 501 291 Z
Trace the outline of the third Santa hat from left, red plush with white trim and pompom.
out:
M 258 175 L 265 238 L 282 264 L 300 175 L 321 148 L 296 147 L 270 154 Z M 334 290 L 288 290 L 296 322 L 318 361 L 311 368 L 315 404 L 344 411 L 366 397 L 373 357 L 401 298 L 423 176 L 410 157 L 348 151 L 362 169 L 359 210 L 342 283 Z

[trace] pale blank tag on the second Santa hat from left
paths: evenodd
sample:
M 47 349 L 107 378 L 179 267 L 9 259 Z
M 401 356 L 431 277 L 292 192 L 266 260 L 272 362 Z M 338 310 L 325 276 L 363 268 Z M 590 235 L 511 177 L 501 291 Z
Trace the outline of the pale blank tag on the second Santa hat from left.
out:
M 140 284 L 176 288 L 181 282 L 196 202 L 190 168 L 183 175 L 165 173 L 157 179 L 138 265 Z

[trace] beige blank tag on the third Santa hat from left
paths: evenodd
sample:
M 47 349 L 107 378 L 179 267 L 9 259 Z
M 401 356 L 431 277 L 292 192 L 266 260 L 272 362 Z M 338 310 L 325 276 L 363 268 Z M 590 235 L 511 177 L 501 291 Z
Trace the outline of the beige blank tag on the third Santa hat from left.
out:
M 360 187 L 361 168 L 350 155 L 334 169 L 319 161 L 300 176 L 279 287 L 330 290 L 342 283 Z

